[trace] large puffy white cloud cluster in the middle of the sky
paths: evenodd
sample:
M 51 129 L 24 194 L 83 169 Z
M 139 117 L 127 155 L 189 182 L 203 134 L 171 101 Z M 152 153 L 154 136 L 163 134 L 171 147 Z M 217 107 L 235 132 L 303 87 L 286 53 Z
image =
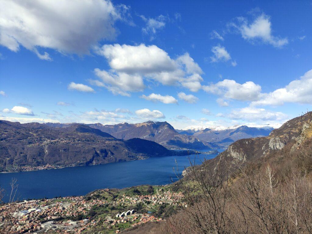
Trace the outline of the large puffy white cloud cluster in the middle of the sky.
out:
M 100 80 L 90 83 L 105 87 L 114 94 L 130 96 L 144 90 L 144 79 L 163 85 L 180 85 L 196 92 L 201 88 L 202 69 L 188 53 L 172 59 L 156 45 L 104 45 L 97 53 L 104 56 L 110 70 L 96 68 Z

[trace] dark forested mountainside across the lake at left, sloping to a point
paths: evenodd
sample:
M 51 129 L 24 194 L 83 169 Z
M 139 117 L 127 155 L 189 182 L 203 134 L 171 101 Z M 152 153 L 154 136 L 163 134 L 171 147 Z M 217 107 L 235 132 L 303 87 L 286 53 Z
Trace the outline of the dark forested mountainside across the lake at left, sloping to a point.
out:
M 0 171 L 14 166 L 92 165 L 141 156 L 188 154 L 139 138 L 116 139 L 109 133 L 76 123 L 69 127 L 49 127 L 0 121 L 0 136 Z

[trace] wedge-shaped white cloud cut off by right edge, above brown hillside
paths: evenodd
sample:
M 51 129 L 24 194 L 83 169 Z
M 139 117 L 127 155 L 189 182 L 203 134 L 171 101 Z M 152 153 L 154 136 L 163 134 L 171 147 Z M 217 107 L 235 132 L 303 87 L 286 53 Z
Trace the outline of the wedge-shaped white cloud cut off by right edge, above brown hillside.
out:
M 260 100 L 251 105 L 283 105 L 284 103 L 312 104 L 312 69 L 300 79 L 291 81 L 285 88 L 279 88 L 271 93 L 264 93 Z

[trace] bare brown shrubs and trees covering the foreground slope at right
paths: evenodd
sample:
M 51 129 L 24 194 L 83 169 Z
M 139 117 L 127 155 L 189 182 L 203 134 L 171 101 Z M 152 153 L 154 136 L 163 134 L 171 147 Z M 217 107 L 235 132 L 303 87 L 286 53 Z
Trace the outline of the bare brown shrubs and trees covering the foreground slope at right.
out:
M 309 123 L 310 124 L 310 123 Z M 177 186 L 187 207 L 155 233 L 312 233 L 312 140 L 239 165 L 219 158 L 191 165 Z

